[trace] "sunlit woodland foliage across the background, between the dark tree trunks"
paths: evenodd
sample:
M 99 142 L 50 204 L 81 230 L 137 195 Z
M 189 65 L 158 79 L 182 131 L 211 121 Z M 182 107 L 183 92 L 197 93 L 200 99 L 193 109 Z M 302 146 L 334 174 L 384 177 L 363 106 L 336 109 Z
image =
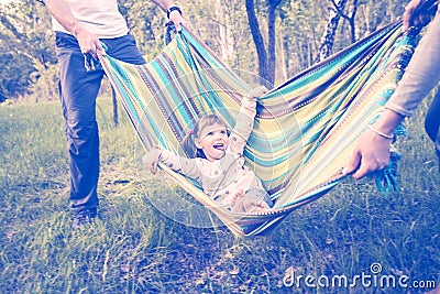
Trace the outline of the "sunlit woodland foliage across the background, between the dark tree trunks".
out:
M 275 84 L 292 77 L 314 64 L 319 51 L 320 40 L 328 20 L 331 0 L 283 0 L 274 10 L 275 43 L 268 46 L 268 7 L 274 1 L 254 1 L 255 15 L 260 23 L 266 50 L 275 50 Z M 402 15 L 407 1 L 348 0 L 344 15 L 354 14 L 352 23 L 348 18 L 338 25 L 333 52 L 350 45 L 354 40 L 366 35 L 391 20 Z M 221 56 L 243 78 L 256 80 L 258 63 L 255 45 L 248 22 L 245 1 L 242 0 L 193 0 L 176 1 L 183 9 L 188 26 Z M 146 59 L 153 58 L 164 46 L 166 15 L 151 1 L 120 0 L 120 10 L 128 20 L 131 32 Z M 14 1 L 6 7 L 0 4 L 0 55 L 19 54 L 20 77 L 15 80 L 30 80 L 25 88 L 10 88 L 7 98 L 34 91 L 43 99 L 56 96 L 56 70 L 51 18 L 43 1 Z M 272 33 L 271 33 L 272 35 Z M 272 42 L 272 41 L 271 41 Z M 272 44 L 272 43 L 271 43 Z M 272 62 L 274 59 L 271 59 Z M 30 76 L 30 68 L 36 72 Z M 32 70 L 31 70 L 32 72 Z M 8 81 L 1 84 L 14 85 Z M 251 80 L 251 81 L 252 81 Z M 250 81 L 250 83 L 251 83 Z M 1 88 L 6 88 L 4 85 Z M 4 97 L 3 97 L 4 98 Z

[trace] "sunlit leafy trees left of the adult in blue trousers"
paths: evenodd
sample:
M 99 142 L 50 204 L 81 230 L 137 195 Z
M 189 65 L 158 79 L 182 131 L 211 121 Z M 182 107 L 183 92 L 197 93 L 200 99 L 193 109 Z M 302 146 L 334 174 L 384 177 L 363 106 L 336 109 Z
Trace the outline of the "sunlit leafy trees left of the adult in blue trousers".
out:
M 0 55 L 4 58 L 3 63 L 9 61 L 9 56 L 14 59 L 14 64 L 9 66 L 14 76 L 2 75 L 1 88 L 3 95 L 7 95 L 4 98 L 30 94 L 35 90 L 33 87 L 37 83 L 44 85 L 38 88 L 44 90 L 44 94 L 38 92 L 40 97 L 52 97 L 56 92 L 53 76 L 45 73 L 53 73 L 51 66 L 56 63 L 56 58 L 51 22 L 41 2 L 23 0 L 0 7 L 0 33 L 3 36 L 0 41 Z M 18 70 L 13 69 L 15 67 Z

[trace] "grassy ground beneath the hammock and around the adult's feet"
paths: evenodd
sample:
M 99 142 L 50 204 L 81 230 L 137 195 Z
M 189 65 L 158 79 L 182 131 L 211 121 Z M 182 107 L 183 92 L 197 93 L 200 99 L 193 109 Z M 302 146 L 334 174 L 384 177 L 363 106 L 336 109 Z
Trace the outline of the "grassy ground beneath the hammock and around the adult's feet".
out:
M 180 192 L 161 176 L 141 185 L 134 132 L 122 113 L 112 126 L 109 100 L 98 109 L 99 219 L 76 231 L 59 104 L 0 107 L 1 293 L 424 293 L 438 281 L 440 182 L 421 113 L 398 144 L 398 193 L 349 179 L 241 239 L 156 209 Z

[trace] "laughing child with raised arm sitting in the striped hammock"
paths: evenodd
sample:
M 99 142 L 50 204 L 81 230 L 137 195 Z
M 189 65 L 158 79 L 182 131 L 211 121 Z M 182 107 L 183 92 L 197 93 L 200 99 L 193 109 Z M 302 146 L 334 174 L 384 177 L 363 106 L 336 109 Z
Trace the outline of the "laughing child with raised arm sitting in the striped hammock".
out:
M 256 97 L 267 89 L 257 87 L 242 99 L 237 123 L 228 137 L 227 124 L 216 115 L 201 117 L 182 145 L 189 159 L 154 148 L 143 157 L 156 173 L 157 163 L 197 181 L 204 192 L 233 213 L 263 211 L 272 200 L 260 178 L 244 165 L 243 151 L 254 126 Z

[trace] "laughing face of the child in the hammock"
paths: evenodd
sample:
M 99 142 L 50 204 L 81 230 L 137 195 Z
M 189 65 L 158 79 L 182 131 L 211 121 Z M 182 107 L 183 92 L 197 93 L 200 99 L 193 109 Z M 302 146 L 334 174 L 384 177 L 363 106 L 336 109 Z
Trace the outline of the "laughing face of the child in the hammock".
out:
M 224 156 L 229 145 L 229 138 L 227 127 L 220 123 L 206 126 L 200 131 L 200 139 L 197 140 L 196 145 L 201 149 L 208 161 L 220 160 Z

